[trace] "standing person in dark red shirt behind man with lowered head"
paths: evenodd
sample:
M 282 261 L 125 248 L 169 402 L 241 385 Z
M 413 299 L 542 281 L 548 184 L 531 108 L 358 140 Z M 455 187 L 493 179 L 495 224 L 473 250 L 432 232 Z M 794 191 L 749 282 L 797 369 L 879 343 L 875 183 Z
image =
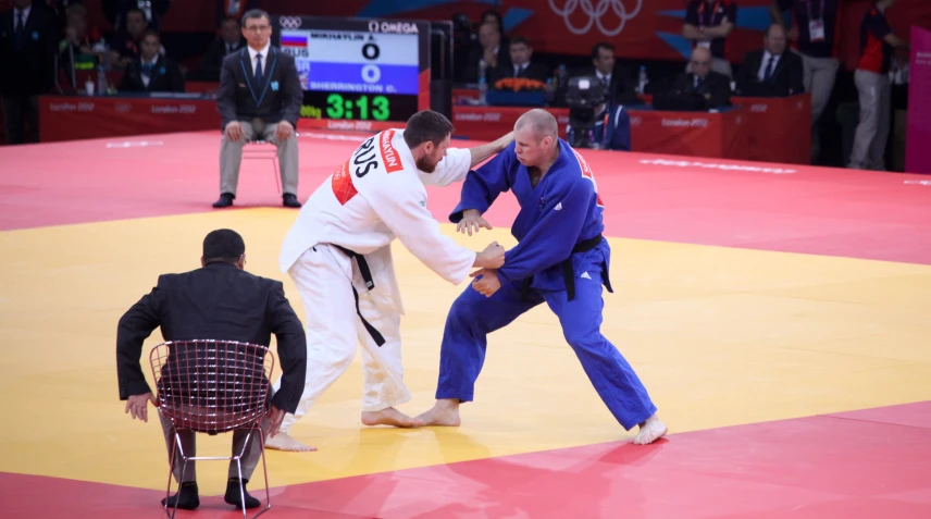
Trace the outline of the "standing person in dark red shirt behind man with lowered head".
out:
M 730 79 L 733 77 L 731 63 L 727 59 L 728 37 L 737 22 L 737 4 L 734 0 L 692 0 L 685 10 L 682 36 L 692 40 L 692 48 L 703 47 L 711 51 L 711 70 Z M 693 72 L 691 66 L 686 73 Z

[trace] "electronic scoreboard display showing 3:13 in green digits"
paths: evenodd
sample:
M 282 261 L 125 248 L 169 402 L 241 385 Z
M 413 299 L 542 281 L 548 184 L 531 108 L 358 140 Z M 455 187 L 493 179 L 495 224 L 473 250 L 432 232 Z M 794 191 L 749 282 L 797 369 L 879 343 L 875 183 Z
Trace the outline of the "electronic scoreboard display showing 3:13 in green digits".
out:
M 301 118 L 404 122 L 430 108 L 429 23 L 273 16 L 272 27 L 297 65 Z

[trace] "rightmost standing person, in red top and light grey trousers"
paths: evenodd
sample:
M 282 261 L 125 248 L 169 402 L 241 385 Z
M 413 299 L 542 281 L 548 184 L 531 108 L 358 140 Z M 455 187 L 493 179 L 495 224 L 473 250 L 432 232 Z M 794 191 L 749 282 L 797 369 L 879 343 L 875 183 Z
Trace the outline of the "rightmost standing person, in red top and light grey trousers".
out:
M 885 144 L 890 125 L 889 70 L 895 49 L 908 44 L 892 33 L 885 10 L 895 0 L 879 0 L 860 24 L 860 61 L 854 83 L 860 100 L 860 120 L 847 168 L 885 170 Z

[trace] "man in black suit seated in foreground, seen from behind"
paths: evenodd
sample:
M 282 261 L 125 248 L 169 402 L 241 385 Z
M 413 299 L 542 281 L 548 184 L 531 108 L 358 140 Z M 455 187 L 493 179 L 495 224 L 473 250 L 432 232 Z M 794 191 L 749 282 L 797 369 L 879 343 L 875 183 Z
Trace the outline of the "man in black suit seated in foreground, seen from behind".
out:
M 133 305 L 120 319 L 116 330 L 116 376 L 120 383 L 120 399 L 126 400 L 126 412 L 133 418 L 148 421 L 148 403 L 156 403 L 152 391 L 146 383 L 139 358 L 142 342 L 156 328 L 161 326 L 165 341 L 216 339 L 269 346 L 271 334 L 277 338 L 278 360 L 282 367 L 282 384 L 269 404 L 269 416 L 262 428 L 274 436 L 286 412 L 297 410 L 303 391 L 307 370 L 307 336 L 300 320 L 285 297 L 280 281 L 252 275 L 245 270 L 246 245 L 235 231 L 221 228 L 203 239 L 201 269 L 183 274 L 163 274 L 158 286 Z M 169 453 L 175 430 L 172 423 L 159 415 Z M 196 456 L 195 433 L 177 431 L 181 447 L 186 456 Z M 257 434 L 245 445 L 247 431 L 233 433 L 233 454 L 243 455 L 243 484 L 248 482 L 261 455 L 261 443 Z M 182 464 L 175 465 L 178 492 L 164 505 L 195 509 L 200 505 L 197 491 L 196 466 L 188 461 L 181 478 Z M 229 480 L 226 485 L 226 503 L 241 506 L 239 472 L 235 461 L 229 462 Z M 246 507 L 260 506 L 259 499 L 246 496 Z

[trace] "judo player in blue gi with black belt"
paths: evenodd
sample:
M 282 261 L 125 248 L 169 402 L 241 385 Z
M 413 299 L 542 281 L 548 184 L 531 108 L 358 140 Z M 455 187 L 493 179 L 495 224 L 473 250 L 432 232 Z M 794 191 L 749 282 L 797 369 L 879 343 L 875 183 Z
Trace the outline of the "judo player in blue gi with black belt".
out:
M 509 189 L 521 206 L 511 228 L 519 243 L 500 269 L 473 272 L 475 280 L 452 304 L 436 405 L 420 416 L 424 425 L 459 425 L 459 404 L 473 398 L 487 334 L 546 302 L 618 422 L 628 431 L 640 427 L 634 443 L 655 442 L 667 427 L 630 363 L 600 332 L 601 286 L 611 292 L 611 250 L 601 237 L 604 206 L 595 178 L 582 156 L 559 138 L 556 119 L 545 110 L 521 115 L 514 143 L 469 172 L 450 220 L 470 235 L 491 228 L 482 213 Z

